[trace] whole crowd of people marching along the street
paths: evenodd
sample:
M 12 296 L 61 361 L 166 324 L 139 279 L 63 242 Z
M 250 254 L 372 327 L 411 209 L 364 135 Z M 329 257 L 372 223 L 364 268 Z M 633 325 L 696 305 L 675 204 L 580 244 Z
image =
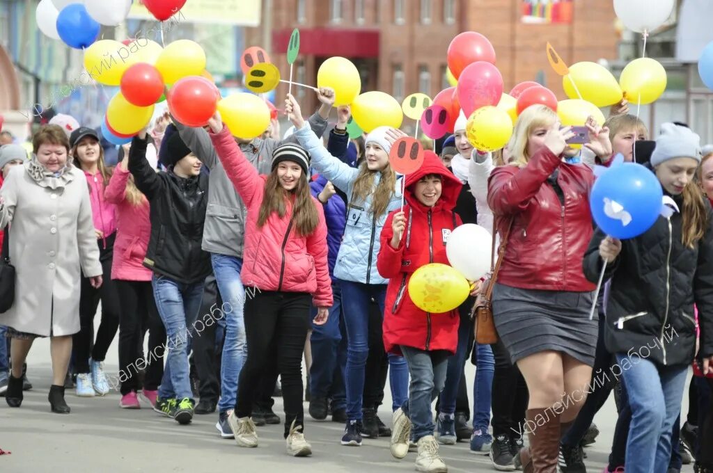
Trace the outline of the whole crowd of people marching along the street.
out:
M 302 457 L 306 398 L 314 420 L 344 425 L 341 445 L 390 437 L 394 457 L 416 450 L 421 472 L 446 472 L 439 445 L 469 440 L 500 471 L 579 473 L 614 393 L 607 472 L 692 461 L 713 472 L 713 147 L 683 123 L 648 140 L 622 102 L 575 150 L 572 130 L 533 105 L 496 152 L 473 149 L 461 114 L 404 176 L 389 165 L 403 132 L 350 138 L 349 107 L 329 129 L 334 91 L 317 96 L 308 120 L 287 96 L 294 128 L 282 139 L 277 123 L 243 140 L 219 113 L 204 128 L 161 117 L 118 149 L 116 166 L 76 120 L 44 125 L 30 157 L 0 147 L 3 252 L 16 268 L 0 314 L 10 407 L 31 388 L 33 341 L 48 337 L 53 412 L 70 412 L 66 389 L 118 388 L 120 407 L 148 402 L 179 424 L 217 410 L 220 436 L 240 447 L 283 423 L 287 452 Z M 624 241 L 590 214 L 593 169 L 615 155 L 645 165 L 670 198 Z M 448 313 L 409 295 L 414 271 L 448 264 L 448 236 L 468 223 L 502 246 L 492 345 L 477 343 L 471 315 L 487 281 L 471 281 Z M 104 360 L 117 331 L 115 375 Z M 390 428 L 378 413 L 387 378 Z

